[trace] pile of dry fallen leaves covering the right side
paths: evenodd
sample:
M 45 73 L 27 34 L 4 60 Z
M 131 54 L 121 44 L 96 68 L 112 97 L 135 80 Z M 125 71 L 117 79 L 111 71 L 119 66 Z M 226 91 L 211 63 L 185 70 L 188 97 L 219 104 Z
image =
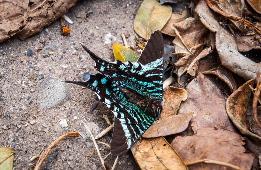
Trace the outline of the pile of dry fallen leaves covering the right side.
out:
M 168 37 L 164 68 L 177 76 L 176 86 L 185 88 L 163 90 L 160 117 L 131 148 L 137 165 L 258 168 L 261 154 L 249 151 L 261 149 L 261 59 L 245 52 L 261 49 L 260 2 L 200 0 L 186 5 L 144 0 L 135 16 L 133 27 L 140 37 L 148 40 L 157 29 Z

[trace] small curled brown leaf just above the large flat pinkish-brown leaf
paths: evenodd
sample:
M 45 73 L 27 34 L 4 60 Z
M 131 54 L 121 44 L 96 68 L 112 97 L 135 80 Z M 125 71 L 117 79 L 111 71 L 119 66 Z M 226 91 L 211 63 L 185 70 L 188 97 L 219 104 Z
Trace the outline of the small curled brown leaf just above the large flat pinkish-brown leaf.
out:
M 218 76 L 218 78 L 220 78 L 228 85 L 232 93 L 237 89 L 237 84 L 233 78 L 232 73 L 229 69 L 225 68 L 222 65 L 220 65 L 218 68 L 204 71 L 202 72 L 202 74 L 215 74 L 216 76 Z

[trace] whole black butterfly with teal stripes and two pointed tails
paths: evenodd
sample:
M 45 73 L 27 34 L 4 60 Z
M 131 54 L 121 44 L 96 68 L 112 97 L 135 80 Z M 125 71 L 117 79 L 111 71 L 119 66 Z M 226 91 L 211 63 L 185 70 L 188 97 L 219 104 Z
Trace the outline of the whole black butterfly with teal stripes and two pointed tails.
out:
M 112 156 L 125 154 L 151 126 L 161 112 L 163 90 L 164 42 L 159 30 L 149 38 L 137 62 L 108 62 L 80 43 L 95 61 L 102 74 L 90 75 L 88 80 L 65 81 L 94 91 L 114 114 L 111 139 Z M 119 89 L 123 87 L 148 99 L 146 109 L 130 102 Z

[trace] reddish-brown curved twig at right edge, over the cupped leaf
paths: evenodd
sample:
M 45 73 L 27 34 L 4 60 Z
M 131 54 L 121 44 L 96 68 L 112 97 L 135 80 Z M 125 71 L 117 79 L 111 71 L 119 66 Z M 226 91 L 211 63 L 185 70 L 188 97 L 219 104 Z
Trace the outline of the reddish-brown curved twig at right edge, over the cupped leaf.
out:
M 253 106 L 253 116 L 254 116 L 255 122 L 258 124 L 259 128 L 261 128 L 261 124 L 257 117 L 257 103 L 258 103 L 258 99 L 259 99 L 259 95 L 260 95 L 260 90 L 261 90 L 260 72 L 258 71 L 258 79 L 257 79 L 256 90 L 255 90 L 255 94 L 253 97 L 252 106 Z

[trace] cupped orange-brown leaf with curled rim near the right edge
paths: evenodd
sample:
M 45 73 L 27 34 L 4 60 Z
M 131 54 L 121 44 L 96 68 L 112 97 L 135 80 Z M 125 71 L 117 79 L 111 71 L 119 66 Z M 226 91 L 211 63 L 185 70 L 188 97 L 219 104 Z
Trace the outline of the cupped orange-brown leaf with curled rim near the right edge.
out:
M 253 84 L 254 81 L 255 79 L 249 80 L 229 96 L 226 100 L 226 113 L 242 134 L 261 141 L 260 136 L 248 130 L 246 122 L 247 107 L 251 96 L 249 85 Z

